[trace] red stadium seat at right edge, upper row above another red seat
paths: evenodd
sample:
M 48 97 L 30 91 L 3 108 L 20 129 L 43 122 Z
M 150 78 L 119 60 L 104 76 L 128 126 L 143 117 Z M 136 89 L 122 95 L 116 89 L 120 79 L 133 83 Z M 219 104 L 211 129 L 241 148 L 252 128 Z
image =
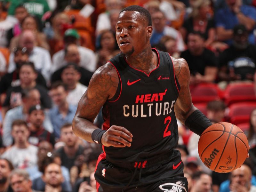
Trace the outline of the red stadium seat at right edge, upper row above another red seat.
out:
M 229 106 L 237 102 L 256 101 L 253 83 L 229 84 L 224 91 L 225 103 Z

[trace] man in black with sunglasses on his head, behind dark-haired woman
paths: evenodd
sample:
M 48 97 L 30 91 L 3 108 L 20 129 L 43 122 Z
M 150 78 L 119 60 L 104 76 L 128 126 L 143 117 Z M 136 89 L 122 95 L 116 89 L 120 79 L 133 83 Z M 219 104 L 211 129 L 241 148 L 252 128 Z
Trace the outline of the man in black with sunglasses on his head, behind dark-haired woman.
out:
M 16 69 L 11 73 L 7 73 L 1 78 L 0 81 L 0 94 L 7 91 L 10 86 L 20 85 L 20 67 L 24 63 L 28 62 L 28 51 L 26 47 L 15 47 L 14 53 L 14 63 Z M 40 84 L 46 87 L 46 81 L 40 72 L 37 72 L 36 84 Z

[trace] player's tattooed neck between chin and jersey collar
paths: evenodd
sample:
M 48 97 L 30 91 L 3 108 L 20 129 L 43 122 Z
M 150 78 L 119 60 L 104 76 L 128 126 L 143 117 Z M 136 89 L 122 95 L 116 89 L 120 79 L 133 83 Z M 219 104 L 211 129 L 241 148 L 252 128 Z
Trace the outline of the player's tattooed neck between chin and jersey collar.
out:
M 155 69 L 158 64 L 156 52 L 152 51 L 151 46 L 137 55 L 125 55 L 125 58 L 133 68 L 142 70 L 147 74 Z

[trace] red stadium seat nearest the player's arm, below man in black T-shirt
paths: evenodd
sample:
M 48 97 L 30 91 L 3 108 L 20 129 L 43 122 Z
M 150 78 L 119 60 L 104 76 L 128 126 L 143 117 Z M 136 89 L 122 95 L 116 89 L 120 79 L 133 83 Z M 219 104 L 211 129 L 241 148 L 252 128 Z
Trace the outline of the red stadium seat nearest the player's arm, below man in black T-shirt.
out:
M 193 103 L 208 103 L 221 98 L 221 90 L 217 84 L 199 84 L 191 90 Z

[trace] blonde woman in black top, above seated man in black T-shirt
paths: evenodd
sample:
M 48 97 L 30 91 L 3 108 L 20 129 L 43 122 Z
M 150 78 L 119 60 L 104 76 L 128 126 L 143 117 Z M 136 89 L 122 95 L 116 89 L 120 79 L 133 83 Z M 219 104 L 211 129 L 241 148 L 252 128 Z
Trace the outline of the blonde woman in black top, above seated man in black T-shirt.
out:
M 199 0 L 196 1 L 192 7 L 193 11 L 190 17 L 183 23 L 180 32 L 183 40 L 187 41 L 187 35 L 193 31 L 200 31 L 205 36 L 204 46 L 209 47 L 215 38 L 215 22 L 209 17 L 211 15 L 211 1 Z

